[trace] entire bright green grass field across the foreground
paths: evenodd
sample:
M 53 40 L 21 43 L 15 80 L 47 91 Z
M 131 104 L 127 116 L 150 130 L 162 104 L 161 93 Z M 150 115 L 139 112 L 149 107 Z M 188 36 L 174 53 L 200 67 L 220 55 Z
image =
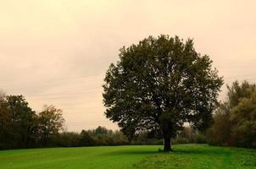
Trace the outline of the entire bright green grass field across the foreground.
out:
M 7 168 L 226 168 L 256 169 L 256 150 L 174 145 L 174 152 L 158 152 L 159 145 L 52 148 L 0 151 L 0 169 Z

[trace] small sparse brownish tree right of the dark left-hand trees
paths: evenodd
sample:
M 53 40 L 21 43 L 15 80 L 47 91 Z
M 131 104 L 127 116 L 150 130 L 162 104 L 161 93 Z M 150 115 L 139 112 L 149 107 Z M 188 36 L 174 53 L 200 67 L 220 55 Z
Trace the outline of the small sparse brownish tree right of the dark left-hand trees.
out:
M 43 106 L 42 112 L 38 115 L 38 123 L 41 143 L 48 144 L 49 139 L 64 129 L 62 110 L 55 106 Z

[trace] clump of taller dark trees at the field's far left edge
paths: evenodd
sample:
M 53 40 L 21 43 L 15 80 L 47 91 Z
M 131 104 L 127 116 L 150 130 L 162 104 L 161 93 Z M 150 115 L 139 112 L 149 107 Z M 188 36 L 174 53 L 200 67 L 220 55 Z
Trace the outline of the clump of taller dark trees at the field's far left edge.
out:
M 63 128 L 62 111 L 55 106 L 36 113 L 23 95 L 0 95 L 0 149 L 47 146 Z

